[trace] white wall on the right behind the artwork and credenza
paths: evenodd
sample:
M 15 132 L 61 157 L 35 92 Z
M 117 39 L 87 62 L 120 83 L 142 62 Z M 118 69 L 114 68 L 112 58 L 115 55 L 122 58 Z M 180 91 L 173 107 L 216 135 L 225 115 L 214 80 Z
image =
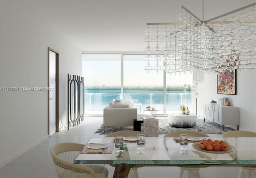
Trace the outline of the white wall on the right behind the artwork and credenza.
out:
M 237 70 L 237 94 L 217 94 L 217 76 L 204 74 L 204 103 L 229 98 L 232 106 L 239 107 L 240 130 L 256 131 L 256 70 Z M 236 129 L 236 126 L 233 128 Z

